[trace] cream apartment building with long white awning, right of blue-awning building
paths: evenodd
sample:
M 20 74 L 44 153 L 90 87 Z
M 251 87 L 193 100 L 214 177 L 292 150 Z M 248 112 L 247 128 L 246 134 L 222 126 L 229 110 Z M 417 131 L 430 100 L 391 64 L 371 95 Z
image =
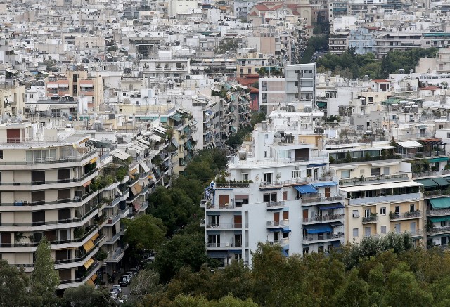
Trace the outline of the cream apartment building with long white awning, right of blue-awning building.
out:
M 328 151 L 344 197 L 346 242 L 406 231 L 422 244 L 423 194 L 421 184 L 411 181 L 411 164 L 381 143 Z

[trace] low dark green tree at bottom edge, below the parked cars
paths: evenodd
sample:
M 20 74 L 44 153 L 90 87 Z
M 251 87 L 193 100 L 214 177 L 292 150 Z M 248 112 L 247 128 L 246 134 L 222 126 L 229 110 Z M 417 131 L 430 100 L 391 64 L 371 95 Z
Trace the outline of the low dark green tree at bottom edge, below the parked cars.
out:
M 110 301 L 110 294 L 107 289 L 96 289 L 86 284 L 76 288 L 66 289 L 62 303 L 68 307 L 114 306 L 113 302 Z

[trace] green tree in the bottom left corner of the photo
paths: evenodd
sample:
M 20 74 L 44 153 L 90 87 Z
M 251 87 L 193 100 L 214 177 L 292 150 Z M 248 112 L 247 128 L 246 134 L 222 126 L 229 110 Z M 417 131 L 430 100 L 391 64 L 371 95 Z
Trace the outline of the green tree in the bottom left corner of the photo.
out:
M 0 259 L 0 306 L 29 306 L 28 278 L 23 268 Z

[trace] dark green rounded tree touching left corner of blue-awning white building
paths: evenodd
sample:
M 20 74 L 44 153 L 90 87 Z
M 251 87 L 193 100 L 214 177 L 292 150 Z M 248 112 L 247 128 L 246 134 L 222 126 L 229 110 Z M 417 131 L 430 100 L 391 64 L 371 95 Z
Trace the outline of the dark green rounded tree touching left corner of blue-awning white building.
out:
M 207 261 L 202 233 L 174 235 L 156 254 L 155 268 L 161 280 L 168 282 L 181 268 L 189 266 L 197 271 Z

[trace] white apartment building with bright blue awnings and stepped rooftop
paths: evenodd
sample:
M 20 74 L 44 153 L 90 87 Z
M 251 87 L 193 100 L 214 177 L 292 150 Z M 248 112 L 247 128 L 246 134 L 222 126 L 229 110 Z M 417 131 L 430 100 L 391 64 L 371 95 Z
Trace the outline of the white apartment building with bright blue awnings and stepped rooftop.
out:
M 253 142 L 205 190 L 207 253 L 252 265 L 258 242 L 280 244 L 285 256 L 328 252 L 344 240 L 344 206 L 328 156 L 292 131 L 258 124 Z

